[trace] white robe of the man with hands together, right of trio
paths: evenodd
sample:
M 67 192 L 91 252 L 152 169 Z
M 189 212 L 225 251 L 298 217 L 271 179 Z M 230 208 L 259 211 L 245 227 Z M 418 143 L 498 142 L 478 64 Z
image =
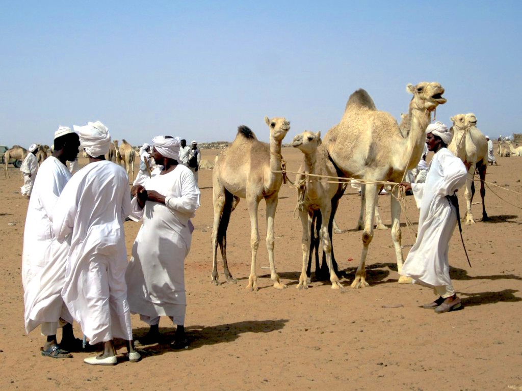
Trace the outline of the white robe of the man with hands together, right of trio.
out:
M 165 196 L 165 203 L 147 201 L 140 209 L 132 201 L 133 217 L 143 217 L 127 267 L 128 301 L 131 311 L 146 317 L 171 316 L 175 324 L 185 321 L 184 262 L 191 248 L 190 218 L 199 206 L 200 192 L 191 170 L 177 165 L 170 173 L 152 172 L 145 189 Z

